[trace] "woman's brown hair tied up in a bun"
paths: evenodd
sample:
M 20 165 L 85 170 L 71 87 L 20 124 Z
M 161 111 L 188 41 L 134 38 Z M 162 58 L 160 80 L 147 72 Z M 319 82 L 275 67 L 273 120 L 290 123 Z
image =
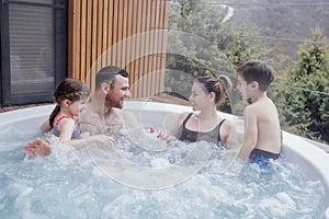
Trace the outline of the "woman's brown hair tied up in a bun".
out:
M 195 79 L 206 93 L 215 93 L 215 104 L 217 106 L 222 105 L 227 97 L 227 92 L 231 89 L 231 82 L 227 76 L 220 74 L 218 78 L 212 76 L 202 76 Z

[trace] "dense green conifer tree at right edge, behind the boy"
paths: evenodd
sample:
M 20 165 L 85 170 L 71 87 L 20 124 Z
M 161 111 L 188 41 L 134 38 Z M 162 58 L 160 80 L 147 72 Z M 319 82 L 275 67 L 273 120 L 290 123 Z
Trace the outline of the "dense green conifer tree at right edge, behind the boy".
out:
M 300 45 L 298 57 L 285 73 L 285 123 L 292 132 L 329 142 L 328 38 L 320 28 Z

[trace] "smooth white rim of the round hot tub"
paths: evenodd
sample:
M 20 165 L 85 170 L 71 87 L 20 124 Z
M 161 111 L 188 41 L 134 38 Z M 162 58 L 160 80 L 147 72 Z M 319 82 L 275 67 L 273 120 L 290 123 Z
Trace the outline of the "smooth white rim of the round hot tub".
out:
M 16 110 L 7 113 L 0 113 L 0 130 L 8 125 L 15 127 L 19 131 L 31 131 L 39 129 L 41 124 L 53 111 L 54 105 L 36 106 L 31 108 Z M 174 104 L 126 101 L 125 110 L 138 113 L 147 111 L 148 119 L 152 120 L 157 113 L 179 114 L 184 111 L 191 111 L 189 106 Z M 234 116 L 224 114 L 225 117 Z M 329 154 L 315 147 L 303 138 L 283 132 L 283 154 L 293 163 L 300 166 L 300 170 L 311 180 L 318 180 L 325 187 L 325 201 L 327 206 L 326 218 L 329 218 Z

